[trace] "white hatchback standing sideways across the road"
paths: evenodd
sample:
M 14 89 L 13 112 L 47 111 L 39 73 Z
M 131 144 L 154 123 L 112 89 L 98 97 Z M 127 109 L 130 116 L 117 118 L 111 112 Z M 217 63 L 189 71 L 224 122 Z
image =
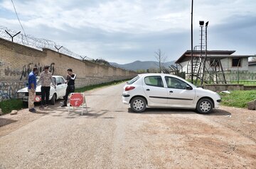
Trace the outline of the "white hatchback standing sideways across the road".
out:
M 122 102 L 133 112 L 144 112 L 146 107 L 173 107 L 206 114 L 218 108 L 220 101 L 218 93 L 171 74 L 139 74 L 127 82 L 122 93 Z

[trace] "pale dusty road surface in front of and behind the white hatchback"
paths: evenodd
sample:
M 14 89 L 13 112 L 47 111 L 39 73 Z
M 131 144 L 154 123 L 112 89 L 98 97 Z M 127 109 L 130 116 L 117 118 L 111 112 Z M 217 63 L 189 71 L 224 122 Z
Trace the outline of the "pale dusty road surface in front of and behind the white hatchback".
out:
M 241 118 L 226 110 L 211 115 L 170 109 L 132 113 L 122 104 L 122 86 L 86 93 L 88 113 L 83 116 L 80 110 L 68 115 L 67 107 L 55 105 L 1 136 L 0 168 L 256 166 L 255 114 L 238 131 L 235 120 Z

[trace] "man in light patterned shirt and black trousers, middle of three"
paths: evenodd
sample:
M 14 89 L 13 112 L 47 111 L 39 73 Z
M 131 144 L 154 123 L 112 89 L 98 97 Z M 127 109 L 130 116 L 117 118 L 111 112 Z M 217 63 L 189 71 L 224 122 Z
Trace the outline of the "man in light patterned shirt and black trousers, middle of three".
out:
M 44 70 L 40 74 L 39 82 L 41 82 L 41 108 L 48 107 L 49 96 L 50 96 L 50 83 L 53 83 L 56 88 L 55 82 L 53 81 L 53 75 L 49 71 L 50 66 L 44 66 Z

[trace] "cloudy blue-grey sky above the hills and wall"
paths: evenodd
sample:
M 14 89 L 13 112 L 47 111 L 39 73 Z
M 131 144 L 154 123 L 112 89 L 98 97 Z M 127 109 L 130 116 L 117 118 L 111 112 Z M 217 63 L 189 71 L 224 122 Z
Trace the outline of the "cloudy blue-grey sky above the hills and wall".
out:
M 13 0 L 28 35 L 93 59 L 125 64 L 173 61 L 191 49 L 191 0 Z M 256 54 L 255 0 L 194 0 L 193 45 L 209 21 L 208 49 Z M 11 0 L 0 0 L 0 25 L 22 31 Z

